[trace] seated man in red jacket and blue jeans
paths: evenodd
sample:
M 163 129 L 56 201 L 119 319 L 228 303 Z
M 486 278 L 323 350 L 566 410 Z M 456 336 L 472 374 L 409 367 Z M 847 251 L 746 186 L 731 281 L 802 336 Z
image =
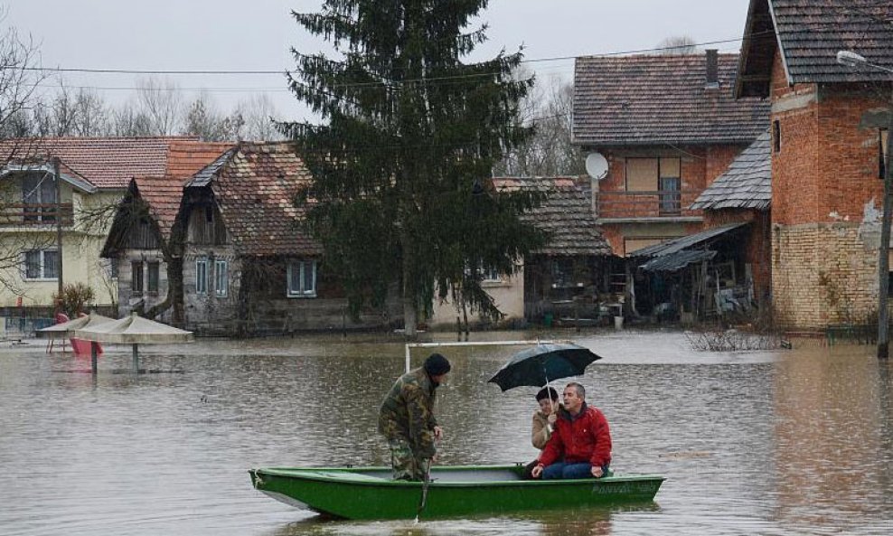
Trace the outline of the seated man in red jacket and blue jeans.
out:
M 555 431 L 540 453 L 533 478 L 601 478 L 611 465 L 611 431 L 605 415 L 586 405 L 586 390 L 577 382 L 564 388 Z M 562 460 L 562 461 L 558 461 Z

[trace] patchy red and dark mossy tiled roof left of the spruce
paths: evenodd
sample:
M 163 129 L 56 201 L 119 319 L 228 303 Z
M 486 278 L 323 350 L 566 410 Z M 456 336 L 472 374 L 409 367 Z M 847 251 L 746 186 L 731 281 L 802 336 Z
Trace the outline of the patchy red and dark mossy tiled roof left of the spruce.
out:
M 322 254 L 301 230 L 298 191 L 311 183 L 304 162 L 287 143 L 243 143 L 211 181 L 211 190 L 242 255 Z

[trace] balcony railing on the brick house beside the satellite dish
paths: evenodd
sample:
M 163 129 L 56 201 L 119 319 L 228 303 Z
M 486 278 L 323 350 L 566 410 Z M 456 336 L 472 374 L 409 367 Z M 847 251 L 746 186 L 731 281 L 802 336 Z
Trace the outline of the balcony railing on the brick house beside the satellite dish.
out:
M 689 206 L 700 195 L 700 190 L 656 190 L 652 192 L 598 192 L 598 218 L 694 218 L 702 211 L 691 211 Z

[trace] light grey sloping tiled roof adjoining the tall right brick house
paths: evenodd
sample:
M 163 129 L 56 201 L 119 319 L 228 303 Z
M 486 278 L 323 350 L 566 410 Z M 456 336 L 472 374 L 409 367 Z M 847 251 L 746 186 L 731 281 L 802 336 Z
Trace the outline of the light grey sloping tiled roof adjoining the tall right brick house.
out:
M 757 141 L 728 166 L 698 199 L 691 210 L 703 209 L 757 209 L 766 210 L 772 202 L 772 154 L 769 132 L 757 137 Z

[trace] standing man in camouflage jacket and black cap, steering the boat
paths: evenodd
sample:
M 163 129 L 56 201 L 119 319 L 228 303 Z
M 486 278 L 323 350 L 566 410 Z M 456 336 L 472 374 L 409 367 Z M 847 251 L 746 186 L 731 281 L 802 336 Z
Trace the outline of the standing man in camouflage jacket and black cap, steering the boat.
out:
M 447 378 L 447 358 L 432 353 L 420 368 L 400 376 L 381 403 L 379 432 L 388 440 L 394 480 L 424 480 L 443 430 L 434 418 L 435 390 Z

